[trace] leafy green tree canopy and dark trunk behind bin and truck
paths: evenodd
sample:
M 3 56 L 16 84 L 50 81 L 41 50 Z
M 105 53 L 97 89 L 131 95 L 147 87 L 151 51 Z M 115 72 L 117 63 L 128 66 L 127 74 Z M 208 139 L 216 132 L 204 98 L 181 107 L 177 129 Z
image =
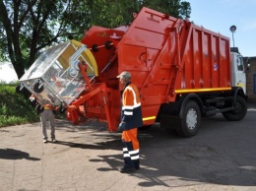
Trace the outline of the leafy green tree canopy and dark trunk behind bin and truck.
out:
M 20 79 L 45 48 L 93 25 L 125 25 L 143 6 L 179 18 L 191 11 L 181 0 L 0 0 L 0 61 L 11 61 Z

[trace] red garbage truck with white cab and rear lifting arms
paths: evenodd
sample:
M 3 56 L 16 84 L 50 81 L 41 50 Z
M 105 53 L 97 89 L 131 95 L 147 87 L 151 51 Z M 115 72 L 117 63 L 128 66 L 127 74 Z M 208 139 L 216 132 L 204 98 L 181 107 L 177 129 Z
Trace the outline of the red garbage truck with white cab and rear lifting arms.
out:
M 143 8 L 130 26 L 93 27 L 81 42 L 73 40 L 72 45 L 86 47 L 84 56 L 72 60 L 64 51 L 57 59 L 61 66 L 69 63 L 65 71 L 75 78 L 58 76 L 54 84 L 67 87 L 80 77 L 81 86 L 61 92 L 43 78 L 34 80 L 37 88 L 46 87 L 57 102 L 64 102 L 74 124 L 97 118 L 107 122 L 109 131 L 117 130 L 121 87 L 116 76 L 122 71 L 132 74 L 140 91 L 145 126 L 159 121 L 161 127 L 191 137 L 202 116 L 222 112 L 227 120 L 240 120 L 246 114 L 245 82 L 234 78 L 237 72 L 244 74 L 236 71 L 241 56 L 230 53 L 229 39 L 220 33 Z M 21 79 L 21 89 L 39 96 L 26 81 Z

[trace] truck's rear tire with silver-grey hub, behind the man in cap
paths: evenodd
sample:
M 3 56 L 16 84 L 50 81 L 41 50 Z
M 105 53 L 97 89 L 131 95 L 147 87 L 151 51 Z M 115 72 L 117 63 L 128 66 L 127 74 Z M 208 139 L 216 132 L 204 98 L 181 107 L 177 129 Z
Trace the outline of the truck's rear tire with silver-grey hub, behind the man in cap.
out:
M 201 123 L 201 112 L 194 100 L 188 100 L 182 110 L 181 127 L 176 131 L 183 137 L 193 137 L 197 134 Z

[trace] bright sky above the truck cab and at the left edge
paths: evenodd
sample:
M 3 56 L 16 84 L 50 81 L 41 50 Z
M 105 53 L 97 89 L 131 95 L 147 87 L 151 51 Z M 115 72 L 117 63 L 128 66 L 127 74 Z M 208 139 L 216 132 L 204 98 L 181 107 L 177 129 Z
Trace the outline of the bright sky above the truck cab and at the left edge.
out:
M 192 9 L 191 22 L 229 37 L 230 46 L 238 47 L 242 56 L 256 56 L 256 0 L 185 1 Z M 236 27 L 233 33 L 229 30 L 231 26 Z M 0 81 L 16 80 L 17 75 L 10 66 L 0 65 Z

